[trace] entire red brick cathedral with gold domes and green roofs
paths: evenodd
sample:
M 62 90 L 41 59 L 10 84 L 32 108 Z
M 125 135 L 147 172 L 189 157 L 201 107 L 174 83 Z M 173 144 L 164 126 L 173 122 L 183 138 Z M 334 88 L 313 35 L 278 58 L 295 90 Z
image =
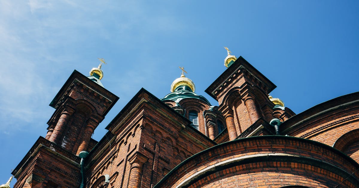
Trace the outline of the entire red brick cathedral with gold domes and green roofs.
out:
M 101 64 L 74 71 L 14 187 L 359 187 L 359 92 L 295 115 L 244 58 L 228 50 L 224 62 L 205 90 L 218 106 L 182 72 L 162 99 L 141 89 L 99 141 L 91 135 L 118 97 Z

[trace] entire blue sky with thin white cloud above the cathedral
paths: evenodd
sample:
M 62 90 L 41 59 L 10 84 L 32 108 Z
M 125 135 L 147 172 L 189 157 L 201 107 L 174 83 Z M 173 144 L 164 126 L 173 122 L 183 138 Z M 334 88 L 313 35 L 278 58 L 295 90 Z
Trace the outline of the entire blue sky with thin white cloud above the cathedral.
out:
M 88 75 L 97 58 L 108 63 L 102 84 L 120 99 L 96 140 L 141 87 L 168 94 L 178 66 L 218 105 L 204 90 L 225 70 L 223 46 L 274 82 L 271 95 L 295 113 L 358 91 L 358 10 L 348 0 L 0 0 L 0 184 L 46 135 L 48 104 L 73 70 Z

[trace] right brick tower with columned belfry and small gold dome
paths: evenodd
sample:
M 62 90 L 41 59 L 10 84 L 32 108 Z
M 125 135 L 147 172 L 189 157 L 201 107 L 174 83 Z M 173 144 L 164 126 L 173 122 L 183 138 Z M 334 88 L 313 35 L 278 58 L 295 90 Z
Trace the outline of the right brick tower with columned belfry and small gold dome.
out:
M 276 86 L 244 58 L 237 59 L 225 48 L 228 56 L 224 65 L 228 68 L 205 91 L 219 103 L 229 140 L 275 134 L 267 122 L 274 118 L 275 104 L 269 93 Z

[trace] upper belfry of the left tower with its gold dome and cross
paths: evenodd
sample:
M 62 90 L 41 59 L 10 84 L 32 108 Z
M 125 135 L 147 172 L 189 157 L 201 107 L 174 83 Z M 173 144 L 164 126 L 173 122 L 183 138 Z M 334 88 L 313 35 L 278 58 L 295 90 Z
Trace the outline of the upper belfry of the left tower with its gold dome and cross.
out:
M 76 155 L 89 151 L 91 135 L 118 100 L 100 81 L 103 62 L 88 77 L 74 71 L 50 103 L 56 111 L 45 138 Z

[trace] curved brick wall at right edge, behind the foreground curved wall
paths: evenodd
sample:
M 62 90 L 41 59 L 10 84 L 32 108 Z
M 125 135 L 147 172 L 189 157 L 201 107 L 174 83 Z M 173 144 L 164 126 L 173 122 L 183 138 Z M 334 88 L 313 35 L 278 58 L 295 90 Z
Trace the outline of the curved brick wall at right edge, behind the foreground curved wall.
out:
M 281 135 L 315 140 L 332 146 L 349 131 L 358 129 L 359 92 L 343 95 L 301 112 L 281 126 Z

